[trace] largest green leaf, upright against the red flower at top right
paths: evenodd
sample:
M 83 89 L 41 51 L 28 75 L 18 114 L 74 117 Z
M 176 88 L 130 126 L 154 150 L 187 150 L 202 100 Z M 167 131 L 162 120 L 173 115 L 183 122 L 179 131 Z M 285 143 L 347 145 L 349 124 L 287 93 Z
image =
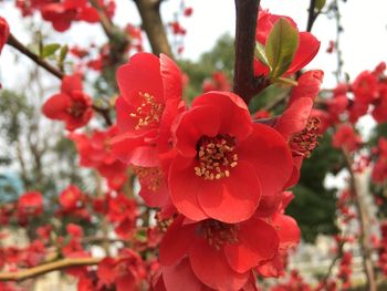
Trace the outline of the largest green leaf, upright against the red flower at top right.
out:
M 268 62 L 272 67 L 270 79 L 279 77 L 286 72 L 297 48 L 299 32 L 286 19 L 280 18 L 270 31 L 265 45 Z

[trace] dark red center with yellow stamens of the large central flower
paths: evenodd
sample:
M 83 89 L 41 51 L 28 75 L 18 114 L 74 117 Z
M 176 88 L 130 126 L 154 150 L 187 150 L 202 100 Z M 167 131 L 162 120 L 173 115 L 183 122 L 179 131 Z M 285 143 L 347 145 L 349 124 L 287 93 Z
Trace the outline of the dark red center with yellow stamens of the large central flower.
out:
M 206 180 L 230 177 L 230 169 L 238 165 L 234 149 L 236 138 L 228 134 L 202 136 L 197 144 L 195 174 Z

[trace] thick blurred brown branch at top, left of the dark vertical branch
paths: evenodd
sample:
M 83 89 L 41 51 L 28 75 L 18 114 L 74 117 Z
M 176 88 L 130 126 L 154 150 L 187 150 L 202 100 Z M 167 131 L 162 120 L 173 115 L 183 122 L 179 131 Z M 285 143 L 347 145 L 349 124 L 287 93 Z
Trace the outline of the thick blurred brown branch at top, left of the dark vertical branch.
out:
M 159 0 L 134 0 L 137 10 L 143 20 L 143 29 L 146 32 L 151 51 L 154 54 L 159 55 L 165 53 L 172 56 L 167 33 L 160 15 L 160 2 Z

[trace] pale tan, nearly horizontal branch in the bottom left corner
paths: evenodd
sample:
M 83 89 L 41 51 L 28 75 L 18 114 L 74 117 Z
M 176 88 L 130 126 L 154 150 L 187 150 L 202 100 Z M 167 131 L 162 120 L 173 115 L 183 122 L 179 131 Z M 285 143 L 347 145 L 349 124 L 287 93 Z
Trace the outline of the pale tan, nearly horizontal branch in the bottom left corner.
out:
M 40 264 L 18 272 L 0 272 L 0 281 L 23 281 L 52 271 L 71 267 L 97 264 L 103 258 L 65 258 L 59 261 Z

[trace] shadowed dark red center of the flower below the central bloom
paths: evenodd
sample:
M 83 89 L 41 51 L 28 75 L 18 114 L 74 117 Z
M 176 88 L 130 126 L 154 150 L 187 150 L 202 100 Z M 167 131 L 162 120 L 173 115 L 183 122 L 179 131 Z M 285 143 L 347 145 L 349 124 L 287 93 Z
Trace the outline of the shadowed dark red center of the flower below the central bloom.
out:
M 215 219 L 208 219 L 200 224 L 200 235 L 220 250 L 224 243 L 237 243 L 239 225 L 229 225 Z

